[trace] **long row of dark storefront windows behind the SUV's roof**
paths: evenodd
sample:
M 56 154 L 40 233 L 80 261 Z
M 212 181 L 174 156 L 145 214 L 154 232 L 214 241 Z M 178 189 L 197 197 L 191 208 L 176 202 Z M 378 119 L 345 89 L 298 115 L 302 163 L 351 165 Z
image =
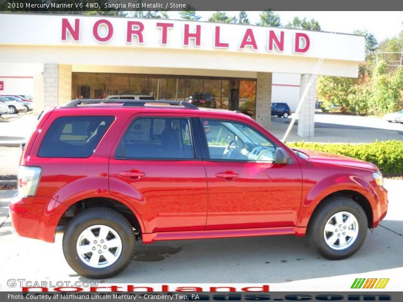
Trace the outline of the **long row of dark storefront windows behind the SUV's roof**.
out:
M 151 95 L 160 100 L 191 101 L 195 106 L 239 110 L 254 116 L 256 81 L 125 73 L 73 72 L 72 97 L 98 99 L 106 95 Z M 238 103 L 239 99 L 239 103 Z

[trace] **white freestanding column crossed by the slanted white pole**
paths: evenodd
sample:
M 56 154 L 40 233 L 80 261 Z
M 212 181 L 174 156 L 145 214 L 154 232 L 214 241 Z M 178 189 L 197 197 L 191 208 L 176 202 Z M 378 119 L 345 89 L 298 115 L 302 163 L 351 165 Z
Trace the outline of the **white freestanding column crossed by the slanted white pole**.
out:
M 301 74 L 301 87 L 300 87 L 300 99 L 304 93 L 308 82 L 311 79 L 312 74 Z M 301 107 L 298 117 L 298 131 L 297 135 L 302 137 L 313 137 L 315 126 L 315 99 L 316 99 L 316 78 L 313 81 L 304 103 Z

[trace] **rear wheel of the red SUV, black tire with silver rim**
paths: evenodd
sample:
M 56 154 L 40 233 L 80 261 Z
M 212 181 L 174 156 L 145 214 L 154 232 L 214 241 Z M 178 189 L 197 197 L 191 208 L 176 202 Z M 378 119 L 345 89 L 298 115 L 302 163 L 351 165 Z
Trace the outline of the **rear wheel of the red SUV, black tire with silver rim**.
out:
M 109 278 L 130 264 L 135 243 L 133 228 L 122 214 L 90 208 L 70 221 L 63 235 L 63 254 L 80 275 Z

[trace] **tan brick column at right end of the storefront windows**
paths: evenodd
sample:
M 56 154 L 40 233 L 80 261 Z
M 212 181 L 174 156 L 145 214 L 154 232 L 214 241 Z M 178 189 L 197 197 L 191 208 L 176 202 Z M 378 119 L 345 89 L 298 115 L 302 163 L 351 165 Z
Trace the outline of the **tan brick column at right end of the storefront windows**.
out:
M 272 73 L 257 72 L 256 122 L 270 129 L 272 114 Z

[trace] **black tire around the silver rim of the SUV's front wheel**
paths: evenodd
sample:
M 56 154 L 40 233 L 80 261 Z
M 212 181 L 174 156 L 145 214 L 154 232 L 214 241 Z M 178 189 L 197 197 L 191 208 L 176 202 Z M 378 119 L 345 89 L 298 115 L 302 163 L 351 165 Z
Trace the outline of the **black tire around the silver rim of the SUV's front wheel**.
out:
M 330 237 L 333 233 L 324 233 L 327 221 L 338 212 L 348 212 L 352 214 L 358 222 L 358 235 L 355 241 L 353 241 L 350 246 L 340 250 L 331 248 L 325 241 L 325 234 L 329 234 Z M 336 225 L 335 227 L 337 228 L 338 226 Z M 344 226 L 342 226 L 342 228 L 344 228 Z M 343 232 L 343 230 L 340 229 L 336 230 Z M 318 208 L 314 211 L 310 219 L 307 237 L 310 246 L 323 257 L 330 260 L 341 260 L 352 256 L 360 249 L 367 236 L 367 231 L 368 220 L 363 208 L 350 198 L 335 196 L 324 200 L 322 204 L 318 205 Z M 349 241 L 349 239 L 347 239 L 347 241 Z M 336 241 L 336 243 L 337 242 L 338 241 Z

